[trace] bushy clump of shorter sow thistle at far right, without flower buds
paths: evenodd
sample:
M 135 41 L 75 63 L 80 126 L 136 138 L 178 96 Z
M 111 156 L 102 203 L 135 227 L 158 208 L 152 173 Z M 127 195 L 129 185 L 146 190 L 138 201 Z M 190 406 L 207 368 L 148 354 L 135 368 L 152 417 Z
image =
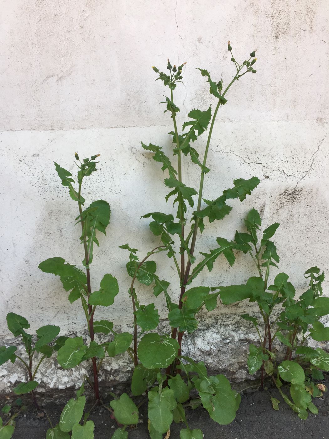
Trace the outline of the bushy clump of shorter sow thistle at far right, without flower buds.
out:
M 283 400 L 301 419 L 306 419 L 307 410 L 318 413 L 312 397 L 322 396 L 326 388 L 323 384 L 316 385 L 316 381 L 324 379 L 322 371 L 329 371 L 329 354 L 307 345 L 309 338 L 317 342 L 329 340 L 329 327 L 319 321 L 329 314 L 329 298 L 322 297 L 324 273 L 317 266 L 307 270 L 304 276 L 309 280 L 308 289 L 299 298 L 286 273 L 277 274 L 274 284 L 268 285 L 270 270 L 278 268 L 279 263 L 275 244 L 270 240 L 279 223 L 267 227 L 260 241 L 257 231 L 261 227 L 261 218 L 256 209 L 248 213 L 245 225 L 247 233 L 237 231 L 235 242 L 244 246 L 242 250 L 254 261 L 258 276 L 250 277 L 245 285 L 219 287 L 220 297 L 227 305 L 243 299 L 257 303 L 262 325 L 256 317 L 241 316 L 254 324 L 260 341 L 259 346 L 251 344 L 249 347 L 249 372 L 254 374 L 261 369 L 261 386 L 265 377 L 270 377 Z M 277 341 L 286 346 L 281 363 Z M 283 385 L 289 388 L 290 398 L 283 392 Z M 273 397 L 271 400 L 273 408 L 279 410 L 280 401 Z

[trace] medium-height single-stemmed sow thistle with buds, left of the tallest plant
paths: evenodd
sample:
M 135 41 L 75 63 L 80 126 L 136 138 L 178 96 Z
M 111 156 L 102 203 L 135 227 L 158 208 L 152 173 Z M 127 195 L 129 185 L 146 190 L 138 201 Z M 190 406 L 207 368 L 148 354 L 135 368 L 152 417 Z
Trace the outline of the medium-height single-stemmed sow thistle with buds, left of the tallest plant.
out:
M 93 155 L 91 158 L 84 158 L 81 162 L 79 155 L 75 153 L 78 167 L 78 188 L 75 188 L 72 174 L 55 163 L 55 169 L 62 185 L 68 187 L 71 198 L 77 203 L 79 215 L 75 217 L 75 220 L 82 230 L 80 241 L 84 250 L 84 259 L 82 261 L 84 271 L 75 265 L 66 263 L 60 257 L 46 259 L 39 264 L 39 268 L 44 273 L 52 273 L 60 277 L 64 290 L 69 291 L 68 299 L 71 303 L 76 300 L 81 302 L 89 332 L 89 345 L 85 344 L 82 337 L 67 337 L 58 349 L 57 361 L 64 369 L 69 369 L 91 359 L 93 382 L 89 377 L 87 377 L 87 380 L 93 387 L 96 400 L 100 401 L 98 374 L 101 364 L 106 356 L 114 357 L 125 352 L 132 342 L 132 335 L 128 332 L 117 334 L 113 330 L 113 323 L 109 320 L 94 320 L 97 306 L 111 306 L 119 292 L 118 282 L 111 274 L 104 275 L 97 291 L 93 291 L 91 286 L 90 266 L 93 262 L 93 246 L 94 244 L 99 246 L 98 232 L 106 235 L 106 227 L 110 223 L 111 214 L 110 206 L 104 200 L 94 201 L 84 209 L 85 199 L 82 197 L 82 183 L 86 177 L 92 176 L 96 172 L 98 162 L 95 162 L 95 159 L 98 156 L 99 154 Z M 103 342 L 97 343 L 95 334 L 103 338 L 112 334 L 114 339 L 110 342 L 108 337 L 105 337 Z

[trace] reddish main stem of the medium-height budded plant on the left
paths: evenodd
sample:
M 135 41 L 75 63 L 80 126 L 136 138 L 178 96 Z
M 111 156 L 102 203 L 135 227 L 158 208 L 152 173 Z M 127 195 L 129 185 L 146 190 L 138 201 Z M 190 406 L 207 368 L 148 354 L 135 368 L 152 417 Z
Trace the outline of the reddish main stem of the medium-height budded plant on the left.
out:
M 90 284 L 90 270 L 89 270 L 89 255 L 88 255 L 88 248 L 87 248 L 87 239 L 86 239 L 86 232 L 84 232 L 84 223 L 82 218 L 82 204 L 80 202 L 81 197 L 81 186 L 82 186 L 82 180 L 79 183 L 79 192 L 78 192 L 78 205 L 79 205 L 79 213 L 80 213 L 80 219 L 81 219 L 81 227 L 82 227 L 82 234 L 83 234 L 83 248 L 85 251 L 85 261 L 86 261 L 86 276 L 87 276 L 87 299 L 89 302 L 89 296 L 91 294 L 91 284 Z M 93 307 L 89 305 L 88 303 L 88 313 L 89 313 L 89 319 L 87 319 L 88 324 L 88 330 L 89 330 L 89 336 L 90 340 L 93 341 L 95 339 L 94 336 L 94 324 L 93 324 Z M 86 316 L 87 317 L 87 316 Z M 99 388 L 98 388 L 98 376 L 97 376 L 97 363 L 96 363 L 96 357 L 93 357 L 91 359 L 93 363 L 93 376 L 94 376 L 94 392 L 95 392 L 95 398 L 97 401 L 100 400 L 100 394 L 99 394 Z

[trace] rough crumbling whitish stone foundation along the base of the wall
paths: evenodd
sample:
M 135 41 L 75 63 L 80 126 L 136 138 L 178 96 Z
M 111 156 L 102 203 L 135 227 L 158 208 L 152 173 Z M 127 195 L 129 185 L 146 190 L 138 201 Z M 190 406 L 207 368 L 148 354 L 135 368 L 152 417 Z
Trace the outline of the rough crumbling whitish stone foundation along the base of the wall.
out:
M 124 327 L 125 331 L 127 327 Z M 132 328 L 129 330 L 132 333 Z M 158 327 L 159 332 L 168 331 L 168 321 L 162 320 Z M 89 342 L 86 333 L 79 332 L 70 334 L 71 337 L 83 336 Z M 97 341 L 97 335 L 95 340 Z M 104 341 L 105 338 L 98 338 Z M 201 317 L 198 329 L 193 334 L 186 335 L 183 339 L 182 355 L 190 356 L 196 361 L 204 361 L 210 374 L 225 374 L 231 382 L 239 383 L 254 380 L 257 374 L 250 376 L 247 368 L 247 356 L 249 344 L 259 344 L 257 333 L 250 322 L 243 320 L 238 314 L 224 314 L 218 320 L 209 317 Z M 14 338 L 7 338 L 2 344 L 18 347 L 18 355 L 24 358 L 26 355 L 24 345 L 17 343 Z M 1 343 L 0 343 L 1 345 Z M 311 340 L 312 347 L 320 346 L 322 349 L 329 348 L 329 342 L 318 343 Z M 275 346 L 278 349 L 278 358 L 283 356 L 285 346 L 279 342 Z M 75 386 L 78 388 L 85 374 L 91 373 L 89 361 L 72 369 L 62 369 L 55 359 L 43 361 L 37 374 L 39 391 L 48 389 L 65 389 Z M 35 357 L 35 364 L 41 356 Z M 103 361 L 100 369 L 100 382 L 121 383 L 131 378 L 132 361 L 128 354 L 117 355 Z M 26 372 L 19 360 L 14 364 L 10 361 L 0 367 L 0 392 L 10 392 L 15 383 L 25 381 Z

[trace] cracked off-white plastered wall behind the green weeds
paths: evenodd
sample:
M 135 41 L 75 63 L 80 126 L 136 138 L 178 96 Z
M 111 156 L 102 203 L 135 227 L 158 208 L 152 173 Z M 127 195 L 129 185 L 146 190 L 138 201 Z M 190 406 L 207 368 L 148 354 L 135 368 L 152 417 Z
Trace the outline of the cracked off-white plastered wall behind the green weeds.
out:
M 275 240 L 280 271 L 290 275 L 298 291 L 306 286 L 303 273 L 310 266 L 328 272 L 328 2 L 12 0 L 1 9 L 2 321 L 14 311 L 30 321 L 32 331 L 43 324 L 58 324 L 61 334 L 84 327 L 79 304 L 70 305 L 57 279 L 37 268 L 55 255 L 71 263 L 82 260 L 74 204 L 53 166 L 56 161 L 74 171 L 72 156 L 78 151 L 83 157 L 101 153 L 97 179 L 86 182 L 85 198 L 104 198 L 112 210 L 107 237 L 95 250 L 92 277 L 96 289 L 104 273 L 113 273 L 120 294 L 97 316 L 119 326 L 126 321 L 131 328 L 127 255 L 118 245 L 129 242 L 144 255 L 158 241 L 139 216 L 168 212 L 161 170 L 139 143 L 170 150 L 171 119 L 158 104 L 168 88 L 154 81 L 150 66 L 165 69 L 167 57 L 176 65 L 187 61 L 184 84 L 175 90 L 181 125 L 190 109 L 214 104 L 196 67 L 226 84 L 231 80 L 227 40 L 238 60 L 257 48 L 257 74 L 244 76 L 229 90 L 218 114 L 204 197 L 217 197 L 233 178 L 256 175 L 261 184 L 242 204 L 233 202 L 234 210 L 223 221 L 207 224 L 197 250 L 213 248 L 217 236 L 232 239 L 255 207 L 264 228 L 281 223 Z M 204 141 L 196 143 L 200 151 Z M 186 163 L 183 171 L 188 184 L 197 183 L 198 169 Z M 154 259 L 159 275 L 172 281 L 172 299 L 177 299 L 174 267 L 162 255 Z M 197 284 L 240 284 L 255 274 L 241 254 L 235 266 L 227 265 L 219 259 Z M 327 281 L 324 286 L 327 294 Z M 139 294 L 142 301 L 154 300 L 146 288 Z M 155 303 L 164 317 L 163 298 Z M 226 325 L 225 331 L 223 322 L 228 313 L 234 320 L 247 310 L 256 311 L 246 303 L 219 304 L 203 315 L 195 335 L 199 342 L 189 342 L 186 351 L 199 358 L 215 334 L 218 343 L 209 348 L 207 364 L 216 359 L 230 377 L 246 378 L 240 364 L 253 335 L 241 323 Z M 10 340 L 5 324 L 0 338 Z M 225 340 L 232 347 L 224 353 Z M 225 363 L 228 352 L 231 360 Z M 234 352 L 243 361 L 232 363 Z M 238 364 L 236 371 L 232 364 Z M 12 375 L 4 367 L 1 371 L 7 386 Z

